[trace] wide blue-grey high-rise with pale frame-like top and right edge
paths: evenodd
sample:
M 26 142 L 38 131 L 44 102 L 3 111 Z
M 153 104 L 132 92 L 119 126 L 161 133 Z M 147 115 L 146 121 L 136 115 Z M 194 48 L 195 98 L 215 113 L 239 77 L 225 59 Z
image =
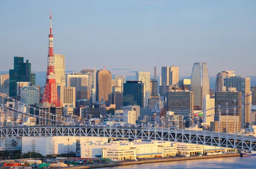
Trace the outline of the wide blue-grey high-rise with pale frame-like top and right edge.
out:
M 66 74 L 66 86 L 76 87 L 76 100 L 79 91 L 89 91 L 90 90 L 90 80 L 88 75 L 82 73 L 71 73 Z M 87 98 L 82 98 L 87 99 Z

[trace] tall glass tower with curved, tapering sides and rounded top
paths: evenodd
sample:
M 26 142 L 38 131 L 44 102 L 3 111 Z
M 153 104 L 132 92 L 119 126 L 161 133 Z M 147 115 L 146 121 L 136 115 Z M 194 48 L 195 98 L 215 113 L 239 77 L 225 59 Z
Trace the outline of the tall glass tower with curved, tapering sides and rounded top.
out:
M 210 94 L 210 82 L 207 64 L 194 63 L 191 74 L 191 91 L 194 92 L 194 104 L 203 108 L 204 95 Z

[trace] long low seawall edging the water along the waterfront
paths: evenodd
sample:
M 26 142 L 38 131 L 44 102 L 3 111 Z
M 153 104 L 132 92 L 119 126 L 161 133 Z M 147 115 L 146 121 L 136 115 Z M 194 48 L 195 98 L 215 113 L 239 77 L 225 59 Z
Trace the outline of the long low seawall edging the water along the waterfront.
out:
M 240 154 L 227 154 L 227 155 L 209 155 L 209 156 L 201 156 L 201 157 L 183 157 L 183 158 L 160 158 L 154 160 L 143 160 L 143 161 L 127 161 L 122 163 L 108 163 L 108 164 L 96 164 L 90 166 L 74 166 L 74 167 L 65 167 L 68 169 L 92 169 L 92 168 L 100 168 L 100 167 L 111 167 L 111 166 L 123 166 L 123 165 L 132 165 L 132 164 L 143 164 L 143 163 L 157 163 L 157 162 L 165 162 L 165 161 L 181 161 L 181 160 L 194 160 L 194 159 L 204 159 L 204 158 L 221 158 L 221 157 L 234 157 L 240 156 Z M 64 168 L 64 167 L 63 167 Z

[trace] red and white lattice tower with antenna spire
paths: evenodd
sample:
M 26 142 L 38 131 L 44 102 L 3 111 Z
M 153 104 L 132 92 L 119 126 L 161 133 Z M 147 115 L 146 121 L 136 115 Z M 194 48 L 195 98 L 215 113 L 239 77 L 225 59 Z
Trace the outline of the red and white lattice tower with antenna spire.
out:
M 50 104 L 55 104 L 56 107 L 62 107 L 61 101 L 58 97 L 57 86 L 56 86 L 56 76 L 54 70 L 54 58 L 53 58 L 53 35 L 52 35 L 52 12 L 50 14 L 50 34 L 49 34 L 49 51 L 47 60 L 47 76 L 46 85 L 44 90 L 44 96 L 41 101 L 48 102 Z

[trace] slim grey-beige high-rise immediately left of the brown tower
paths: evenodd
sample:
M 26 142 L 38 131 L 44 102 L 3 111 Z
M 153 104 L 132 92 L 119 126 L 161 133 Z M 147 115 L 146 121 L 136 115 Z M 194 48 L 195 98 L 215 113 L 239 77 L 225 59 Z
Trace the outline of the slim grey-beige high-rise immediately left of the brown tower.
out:
M 90 73 L 90 102 L 95 103 L 96 102 L 96 72 L 97 70 L 93 69 L 84 69 L 81 70 L 80 73 L 87 74 L 89 76 Z

